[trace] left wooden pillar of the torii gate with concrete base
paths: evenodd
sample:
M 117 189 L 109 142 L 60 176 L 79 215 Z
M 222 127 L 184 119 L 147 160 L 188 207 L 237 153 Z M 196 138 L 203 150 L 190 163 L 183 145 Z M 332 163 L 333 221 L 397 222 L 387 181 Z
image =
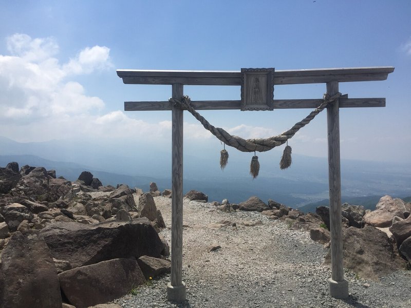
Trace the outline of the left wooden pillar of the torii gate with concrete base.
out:
M 183 97 L 183 85 L 175 83 L 173 99 Z M 167 300 L 185 300 L 185 284 L 182 281 L 183 263 L 183 110 L 172 106 L 172 198 L 171 198 L 171 278 L 167 285 Z

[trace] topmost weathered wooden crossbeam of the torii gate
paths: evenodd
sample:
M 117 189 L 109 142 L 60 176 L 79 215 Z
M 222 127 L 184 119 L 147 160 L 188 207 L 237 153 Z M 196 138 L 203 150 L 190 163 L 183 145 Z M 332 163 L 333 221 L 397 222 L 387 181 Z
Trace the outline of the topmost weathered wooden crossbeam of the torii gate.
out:
M 274 85 L 385 80 L 394 67 L 276 70 Z M 241 85 L 240 71 L 171 71 L 119 69 L 125 84 Z

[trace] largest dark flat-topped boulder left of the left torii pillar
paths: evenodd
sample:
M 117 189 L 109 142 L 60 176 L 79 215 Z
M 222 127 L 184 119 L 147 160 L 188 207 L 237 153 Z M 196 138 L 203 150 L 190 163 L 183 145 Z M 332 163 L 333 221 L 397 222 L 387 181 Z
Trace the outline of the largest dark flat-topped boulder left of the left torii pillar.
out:
M 53 258 L 73 267 L 116 258 L 159 257 L 163 243 L 146 218 L 86 225 L 55 222 L 41 230 Z

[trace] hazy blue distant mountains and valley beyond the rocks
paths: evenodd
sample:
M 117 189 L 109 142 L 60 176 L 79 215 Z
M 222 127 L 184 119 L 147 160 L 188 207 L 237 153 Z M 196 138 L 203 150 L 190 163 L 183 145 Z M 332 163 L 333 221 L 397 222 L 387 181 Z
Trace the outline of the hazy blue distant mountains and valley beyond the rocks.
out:
M 313 206 L 310 203 L 324 203 L 328 198 L 326 158 L 293 155 L 291 167 L 279 170 L 282 153 L 273 150 L 260 155 L 260 175 L 252 180 L 251 156 L 235 150 L 229 153 L 229 164 L 222 172 L 218 152 L 207 148 L 188 149 L 184 153 L 184 192 L 203 191 L 209 201 L 221 202 L 227 198 L 231 203 L 239 203 L 258 196 L 265 202 L 273 199 L 287 206 L 307 208 Z M 171 188 L 171 153 L 161 147 L 147 150 L 138 143 L 119 145 L 75 140 L 19 143 L 0 137 L 0 166 L 11 161 L 20 166 L 55 169 L 57 176 L 71 181 L 87 170 L 103 185 L 121 183 L 148 191 L 150 182 L 156 182 L 160 190 Z M 347 202 L 364 205 L 361 202 L 372 204 L 377 196 L 411 196 L 411 165 L 342 160 L 341 176 L 343 202 L 363 197 Z

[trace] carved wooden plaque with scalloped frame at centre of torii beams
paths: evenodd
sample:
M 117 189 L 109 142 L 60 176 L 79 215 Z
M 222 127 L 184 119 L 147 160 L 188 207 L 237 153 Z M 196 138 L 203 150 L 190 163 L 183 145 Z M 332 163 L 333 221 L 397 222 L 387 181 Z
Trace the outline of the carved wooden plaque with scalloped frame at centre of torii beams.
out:
M 273 110 L 274 68 L 241 68 L 241 110 Z

